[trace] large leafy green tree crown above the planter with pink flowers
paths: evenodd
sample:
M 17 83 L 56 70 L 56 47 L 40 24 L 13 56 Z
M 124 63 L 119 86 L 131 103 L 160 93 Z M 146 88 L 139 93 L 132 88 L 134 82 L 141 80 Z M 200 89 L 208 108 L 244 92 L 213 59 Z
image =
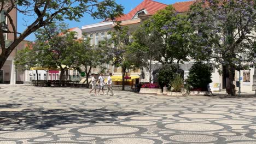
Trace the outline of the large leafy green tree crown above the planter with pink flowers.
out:
M 162 38 L 158 56 L 155 57 L 157 61 L 163 65 L 188 61 L 193 31 L 186 15 L 177 14 L 172 5 L 169 5 L 145 21 L 142 27 L 146 29 L 147 34 L 158 32 Z M 158 41 L 159 39 L 156 39 L 156 42 Z

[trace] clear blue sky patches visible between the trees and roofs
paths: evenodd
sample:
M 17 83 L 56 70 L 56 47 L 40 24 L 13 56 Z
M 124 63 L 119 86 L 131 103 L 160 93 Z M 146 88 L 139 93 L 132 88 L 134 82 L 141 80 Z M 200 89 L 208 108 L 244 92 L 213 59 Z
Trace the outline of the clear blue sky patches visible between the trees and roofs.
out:
M 155 1 L 164 3 L 164 4 L 173 4 L 176 2 L 184 2 L 184 1 L 188 1 L 188 0 L 155 0 Z M 116 2 L 118 4 L 123 5 L 123 7 L 125 8 L 124 14 L 127 14 L 127 13 L 129 13 L 129 11 L 131 11 L 133 8 L 135 8 L 139 3 L 143 2 L 143 0 L 116 0 Z M 18 31 L 19 32 L 23 32 L 26 29 L 26 27 L 24 26 L 25 25 L 24 19 L 26 19 L 26 17 L 24 17 L 24 15 L 18 13 Z M 72 28 L 72 27 L 82 28 L 82 26 L 84 26 L 84 25 L 90 25 L 92 23 L 97 23 L 100 21 L 102 21 L 102 20 L 98 20 L 98 19 L 94 20 L 92 17 L 90 17 L 90 15 L 85 14 L 84 17 L 82 17 L 80 19 L 80 22 L 68 21 L 68 20 L 66 20 L 65 22 L 68 23 L 70 28 Z M 31 40 L 31 41 L 33 41 L 34 39 L 35 38 L 34 38 L 33 34 L 29 35 L 26 38 L 26 40 Z

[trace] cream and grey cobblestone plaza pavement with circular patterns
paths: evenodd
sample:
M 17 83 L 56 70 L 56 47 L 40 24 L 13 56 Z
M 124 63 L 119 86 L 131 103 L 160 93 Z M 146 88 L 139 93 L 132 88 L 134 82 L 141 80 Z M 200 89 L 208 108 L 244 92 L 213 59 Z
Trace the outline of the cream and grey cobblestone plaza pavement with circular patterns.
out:
M 254 97 L 0 87 L 0 143 L 256 143 Z

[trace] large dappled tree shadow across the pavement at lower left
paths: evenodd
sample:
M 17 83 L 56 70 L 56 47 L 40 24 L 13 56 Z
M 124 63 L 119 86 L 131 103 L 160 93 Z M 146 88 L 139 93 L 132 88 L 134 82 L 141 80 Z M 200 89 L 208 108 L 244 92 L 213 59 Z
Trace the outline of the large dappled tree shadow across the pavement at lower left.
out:
M 0 111 L 0 130 L 48 129 L 56 125 L 72 123 L 112 123 L 121 120 L 119 116 L 131 115 L 144 115 L 144 113 L 107 109 Z

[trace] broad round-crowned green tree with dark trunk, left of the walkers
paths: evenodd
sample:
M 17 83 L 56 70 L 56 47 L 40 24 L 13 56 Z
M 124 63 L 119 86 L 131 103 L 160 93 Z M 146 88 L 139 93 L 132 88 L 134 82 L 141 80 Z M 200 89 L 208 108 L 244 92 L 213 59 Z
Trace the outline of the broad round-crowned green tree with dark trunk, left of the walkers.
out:
M 36 32 L 36 44 L 33 49 L 37 51 L 43 67 L 59 67 L 60 85 L 66 69 L 71 68 L 77 59 L 78 41 L 75 32 L 69 32 L 65 23 L 51 23 Z

